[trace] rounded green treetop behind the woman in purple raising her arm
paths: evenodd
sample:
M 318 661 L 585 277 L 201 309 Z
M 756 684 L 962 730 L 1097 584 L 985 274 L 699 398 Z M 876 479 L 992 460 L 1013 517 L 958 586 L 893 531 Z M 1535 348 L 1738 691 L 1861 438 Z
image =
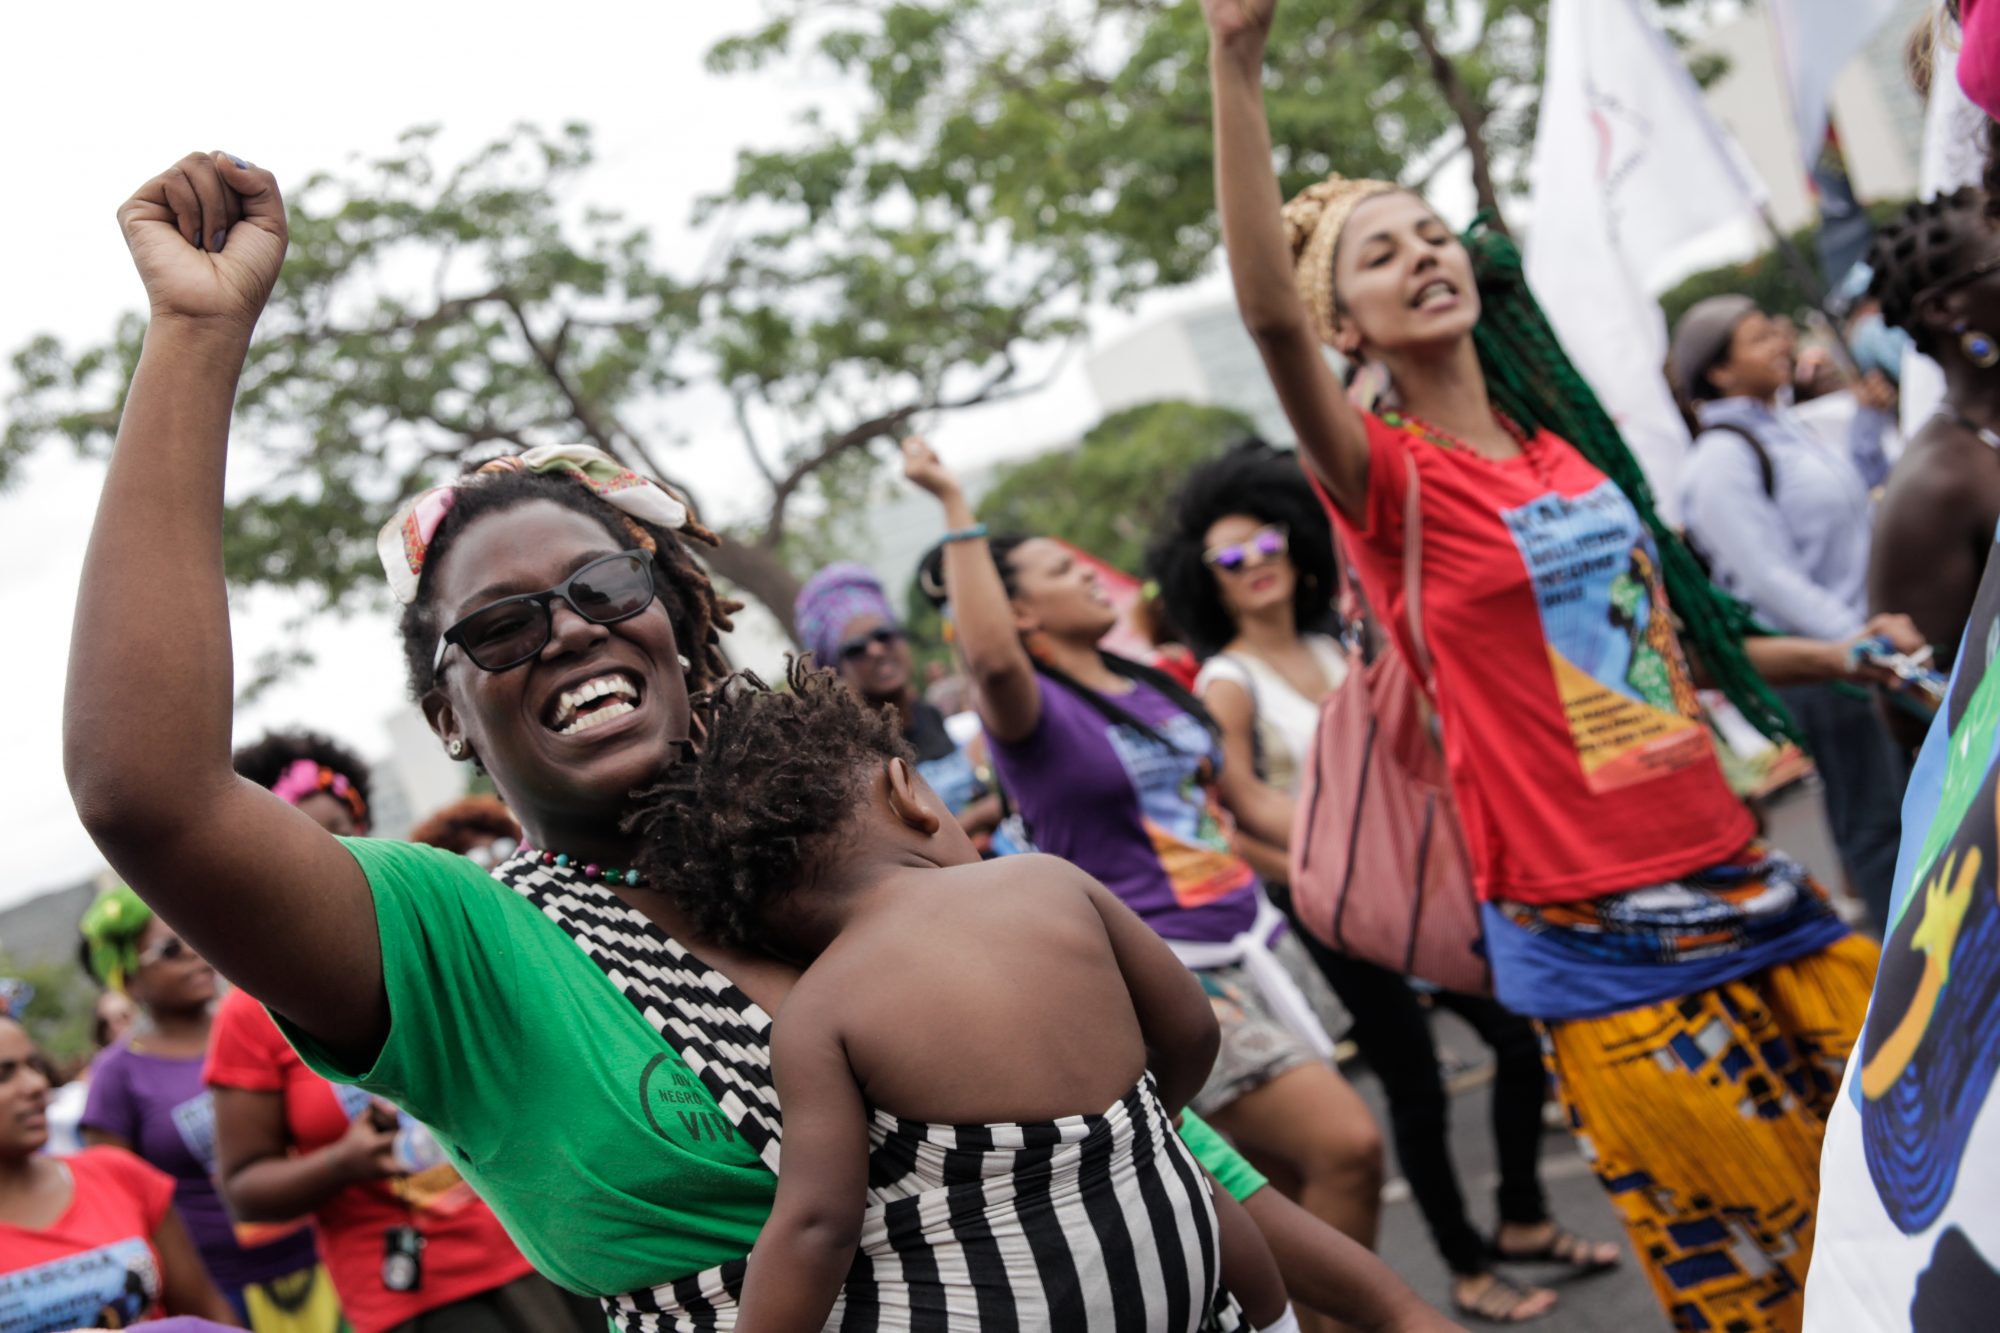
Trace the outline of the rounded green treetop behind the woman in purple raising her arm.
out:
M 1248 416 L 1220 406 L 1168 400 L 1112 412 L 1074 448 L 1002 468 L 980 498 L 980 522 L 1060 536 L 1138 572 L 1188 468 L 1250 434 Z

